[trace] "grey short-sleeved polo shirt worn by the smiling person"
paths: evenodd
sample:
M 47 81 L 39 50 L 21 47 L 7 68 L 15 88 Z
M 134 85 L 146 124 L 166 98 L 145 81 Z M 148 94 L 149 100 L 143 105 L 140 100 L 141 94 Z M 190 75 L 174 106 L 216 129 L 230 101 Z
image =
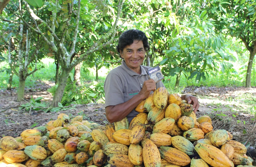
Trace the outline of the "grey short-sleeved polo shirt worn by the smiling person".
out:
M 141 74 L 138 74 L 128 68 L 123 60 L 120 66 L 111 70 L 104 83 L 105 107 L 127 102 L 137 95 L 141 91 L 144 81 L 149 80 L 147 70 L 150 68 L 152 67 L 141 65 Z M 162 81 L 156 83 L 156 88 L 159 87 L 164 87 Z M 129 122 L 138 114 L 134 109 L 126 116 Z

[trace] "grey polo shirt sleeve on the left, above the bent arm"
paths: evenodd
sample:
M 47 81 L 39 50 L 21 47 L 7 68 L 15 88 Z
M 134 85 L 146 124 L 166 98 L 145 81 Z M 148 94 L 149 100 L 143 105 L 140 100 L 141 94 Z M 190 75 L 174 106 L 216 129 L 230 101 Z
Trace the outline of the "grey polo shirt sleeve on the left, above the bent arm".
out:
M 123 84 L 119 76 L 109 73 L 104 83 L 105 107 L 124 103 Z

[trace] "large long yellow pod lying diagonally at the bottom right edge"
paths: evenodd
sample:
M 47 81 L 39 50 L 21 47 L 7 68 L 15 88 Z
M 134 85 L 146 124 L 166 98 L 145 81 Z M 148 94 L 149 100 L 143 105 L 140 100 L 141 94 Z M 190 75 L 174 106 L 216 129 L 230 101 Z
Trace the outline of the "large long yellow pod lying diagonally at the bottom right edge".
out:
M 195 146 L 196 152 L 206 163 L 213 167 L 233 167 L 233 163 L 219 149 L 203 143 L 198 143 Z

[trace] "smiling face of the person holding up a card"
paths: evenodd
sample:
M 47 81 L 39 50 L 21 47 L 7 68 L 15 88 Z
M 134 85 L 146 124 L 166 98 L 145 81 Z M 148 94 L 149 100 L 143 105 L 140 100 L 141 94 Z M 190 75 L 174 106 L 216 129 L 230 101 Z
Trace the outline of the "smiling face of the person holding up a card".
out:
M 146 55 L 143 42 L 134 40 L 132 45 L 127 45 L 120 55 L 131 70 L 140 72 L 140 65 Z

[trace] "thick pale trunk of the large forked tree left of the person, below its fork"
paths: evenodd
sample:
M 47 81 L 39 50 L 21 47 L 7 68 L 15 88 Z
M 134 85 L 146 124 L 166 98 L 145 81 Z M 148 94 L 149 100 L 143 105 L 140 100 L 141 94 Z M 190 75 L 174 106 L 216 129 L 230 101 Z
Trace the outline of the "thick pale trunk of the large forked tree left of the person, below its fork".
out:
M 53 99 L 52 99 L 53 107 L 58 107 L 58 103 L 61 102 L 70 71 L 71 71 L 70 69 L 62 68 L 62 73 L 60 75 L 60 81 L 59 81 L 58 87 L 56 89 L 55 95 L 53 96 Z

